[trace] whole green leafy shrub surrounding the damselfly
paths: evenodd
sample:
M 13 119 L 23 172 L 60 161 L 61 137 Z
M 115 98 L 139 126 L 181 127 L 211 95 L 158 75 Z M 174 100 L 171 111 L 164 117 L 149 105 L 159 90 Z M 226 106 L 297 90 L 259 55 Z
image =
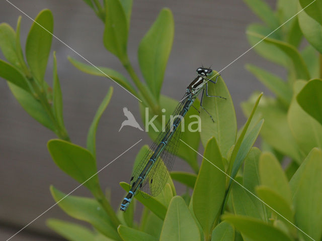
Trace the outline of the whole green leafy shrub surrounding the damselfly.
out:
M 142 119 L 144 107 L 160 116 L 166 109 L 169 117 L 177 101 L 160 94 L 164 73 L 172 48 L 174 21 L 169 9 L 160 11 L 157 19 L 138 47 L 139 66 L 145 83 L 136 75 L 127 56 L 131 0 L 84 0 L 105 23 L 103 43 L 117 56 L 129 73 L 128 81 L 121 73 L 106 67 L 95 67 L 76 59 L 69 61 L 79 70 L 109 77 L 139 101 Z M 261 0 L 245 0 L 263 20 L 263 24 L 248 27 L 251 45 L 278 28 L 304 8 L 309 1 L 279 0 L 274 13 Z M 304 17 L 303 17 L 304 16 Z M 254 65 L 248 65 L 276 97 L 255 94 L 243 103 L 249 116 L 237 132 L 234 106 L 229 91 L 218 78 L 210 85 L 213 95 L 225 96 L 225 101 L 205 98 L 204 106 L 214 123 L 200 110 L 202 131 L 185 132 L 178 157 L 185 160 L 193 173 L 172 172 L 157 197 L 136 199 L 144 206 L 140 221 L 134 220 L 136 200 L 126 212 L 114 211 L 99 184 L 96 166 L 96 129 L 107 107 L 113 89 L 110 88 L 99 106 L 88 132 L 87 148 L 72 144 L 62 117 L 62 98 L 54 55 L 53 90 L 44 80 L 53 32 L 53 17 L 43 10 L 35 21 L 26 42 L 26 60 L 20 46 L 20 20 L 16 32 L 7 24 L 0 25 L 0 48 L 7 61 L 0 60 L 0 76 L 25 110 L 39 123 L 52 130 L 59 139 L 48 142 L 49 152 L 59 168 L 81 184 L 93 198 L 67 195 L 51 186 L 57 204 L 71 217 L 90 223 L 85 226 L 57 219 L 48 220 L 49 227 L 68 240 L 321 240 L 322 236 L 322 88 L 320 3 L 306 8 L 300 15 L 275 31 L 255 50 L 268 60 L 286 68 L 287 81 Z M 309 44 L 299 52 L 302 35 Z M 311 80 L 310 80 L 311 79 Z M 261 100 L 261 101 L 260 101 Z M 200 102 L 194 106 L 199 108 Z M 191 108 L 185 117 L 198 114 Z M 264 123 L 265 119 L 265 123 Z M 156 119 L 157 125 L 162 120 Z M 261 133 L 263 149 L 253 147 Z M 149 136 L 155 140 L 157 133 Z M 196 152 L 200 142 L 204 147 L 199 167 Z M 135 162 L 148 150 L 143 146 Z M 201 155 L 201 154 L 199 154 Z M 286 170 L 280 162 L 288 157 Z M 134 162 L 134 163 L 135 163 Z M 177 196 L 173 180 L 187 186 L 187 192 Z M 121 187 L 129 190 L 129 184 Z M 192 189 L 192 195 L 190 190 Z M 120 200 L 121 202 L 121 200 Z

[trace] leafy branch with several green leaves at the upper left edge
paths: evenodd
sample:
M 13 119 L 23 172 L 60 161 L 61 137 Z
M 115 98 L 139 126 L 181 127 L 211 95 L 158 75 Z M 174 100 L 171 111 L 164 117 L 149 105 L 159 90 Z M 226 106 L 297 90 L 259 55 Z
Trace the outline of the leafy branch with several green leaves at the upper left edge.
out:
M 8 61 L 0 60 L 0 77 L 8 81 L 16 99 L 33 118 L 59 138 L 69 141 L 63 123 L 55 53 L 53 90 L 44 81 L 52 41 L 53 16 L 49 10 L 43 10 L 31 26 L 26 41 L 27 63 L 20 44 L 20 24 L 21 17 L 16 32 L 8 24 L 0 24 L 0 49 Z

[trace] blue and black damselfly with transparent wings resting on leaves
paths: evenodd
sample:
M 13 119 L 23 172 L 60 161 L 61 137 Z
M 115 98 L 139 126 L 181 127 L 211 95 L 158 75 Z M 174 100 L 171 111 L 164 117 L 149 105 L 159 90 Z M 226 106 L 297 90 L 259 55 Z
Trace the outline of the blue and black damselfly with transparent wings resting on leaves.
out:
M 129 206 L 133 196 L 141 190 L 142 194 L 147 193 L 157 196 L 165 186 L 169 172 L 172 169 L 176 153 L 178 151 L 180 137 L 182 132 L 178 131 L 182 118 L 186 115 L 189 108 L 193 106 L 194 100 L 202 90 L 200 106 L 204 109 L 213 121 L 210 113 L 202 106 L 204 95 L 207 97 L 219 97 L 208 94 L 208 81 L 215 84 L 209 76 L 213 75 L 212 69 L 200 67 L 197 69 L 198 76 L 187 87 L 186 93 L 175 108 L 165 130 L 159 134 L 151 149 L 144 155 L 143 159 L 138 163 L 130 180 L 130 191 L 123 199 L 121 210 L 125 211 Z M 193 106 L 194 107 L 194 106 Z M 145 194 L 143 194 L 145 195 Z

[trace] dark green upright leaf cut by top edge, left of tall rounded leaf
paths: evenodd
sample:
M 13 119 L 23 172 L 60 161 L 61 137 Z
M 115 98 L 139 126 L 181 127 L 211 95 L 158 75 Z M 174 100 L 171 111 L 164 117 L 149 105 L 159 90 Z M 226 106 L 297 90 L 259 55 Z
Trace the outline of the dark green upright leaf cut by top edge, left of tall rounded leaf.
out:
M 126 16 L 119 0 L 105 0 L 106 17 L 103 42 L 105 48 L 121 62 L 127 59 L 128 29 Z

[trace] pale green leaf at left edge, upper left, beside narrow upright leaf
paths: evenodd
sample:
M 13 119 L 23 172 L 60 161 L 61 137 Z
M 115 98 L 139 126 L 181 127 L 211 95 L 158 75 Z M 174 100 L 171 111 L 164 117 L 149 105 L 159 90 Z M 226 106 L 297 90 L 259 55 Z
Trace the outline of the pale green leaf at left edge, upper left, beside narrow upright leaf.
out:
M 0 24 L 0 49 L 9 63 L 20 67 L 16 53 L 16 33 L 7 23 Z

